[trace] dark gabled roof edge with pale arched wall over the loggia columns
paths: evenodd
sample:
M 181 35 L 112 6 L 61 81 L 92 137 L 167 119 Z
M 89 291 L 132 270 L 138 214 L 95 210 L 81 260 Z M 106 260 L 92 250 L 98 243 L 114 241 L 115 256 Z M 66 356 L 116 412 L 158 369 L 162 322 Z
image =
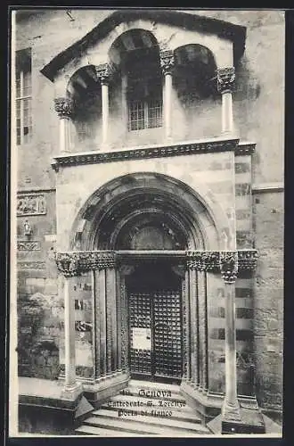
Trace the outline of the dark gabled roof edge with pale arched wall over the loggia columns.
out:
M 162 24 L 164 29 L 154 26 L 154 23 Z M 41 72 L 55 83 L 56 95 L 64 95 L 69 78 L 75 71 L 83 66 L 110 62 L 111 45 L 127 30 L 139 28 L 149 31 L 160 48 L 163 49 L 168 41 L 168 48 L 175 50 L 182 45 L 182 37 L 173 27 L 187 33 L 186 42 L 207 46 L 215 54 L 217 68 L 235 65 L 244 52 L 245 27 L 187 12 L 125 10 L 110 13 L 84 37 L 53 57 Z M 99 52 L 91 51 L 98 44 Z

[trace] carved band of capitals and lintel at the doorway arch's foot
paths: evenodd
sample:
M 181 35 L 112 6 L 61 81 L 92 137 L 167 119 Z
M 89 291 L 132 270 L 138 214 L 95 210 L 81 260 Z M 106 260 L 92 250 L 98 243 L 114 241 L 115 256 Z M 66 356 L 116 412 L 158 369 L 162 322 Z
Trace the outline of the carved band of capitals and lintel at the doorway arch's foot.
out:
M 188 269 L 221 272 L 225 282 L 232 283 L 238 270 L 253 271 L 257 266 L 256 250 L 240 251 L 76 251 L 56 252 L 58 270 L 65 277 L 78 276 L 93 269 L 115 268 L 148 261 L 170 260 Z

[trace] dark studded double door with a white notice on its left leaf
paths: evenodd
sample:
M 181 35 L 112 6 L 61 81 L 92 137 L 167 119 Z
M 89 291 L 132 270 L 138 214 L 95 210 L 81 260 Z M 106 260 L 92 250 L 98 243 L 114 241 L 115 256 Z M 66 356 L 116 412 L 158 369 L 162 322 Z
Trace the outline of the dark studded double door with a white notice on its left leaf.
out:
M 150 379 L 180 379 L 180 292 L 129 293 L 129 336 L 131 374 Z

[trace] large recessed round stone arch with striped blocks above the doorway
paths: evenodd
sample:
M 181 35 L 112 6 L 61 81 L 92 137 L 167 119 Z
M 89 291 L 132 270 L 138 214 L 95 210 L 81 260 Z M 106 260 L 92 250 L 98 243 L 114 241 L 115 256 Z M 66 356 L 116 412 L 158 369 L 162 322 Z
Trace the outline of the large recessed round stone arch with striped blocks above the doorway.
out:
M 119 249 L 119 234 L 127 225 L 131 227 L 140 213 L 152 218 L 160 215 L 167 228 L 176 231 L 182 240 L 182 249 L 226 249 L 232 238 L 230 224 L 210 195 L 203 187 L 195 190 L 158 173 L 137 172 L 114 178 L 97 189 L 78 211 L 69 249 Z

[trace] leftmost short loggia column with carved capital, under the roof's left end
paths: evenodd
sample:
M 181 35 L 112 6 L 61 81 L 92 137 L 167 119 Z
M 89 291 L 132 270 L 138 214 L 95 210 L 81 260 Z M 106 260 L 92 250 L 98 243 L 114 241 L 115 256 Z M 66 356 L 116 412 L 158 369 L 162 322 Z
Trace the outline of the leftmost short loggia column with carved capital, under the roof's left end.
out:
M 58 97 L 54 99 L 54 107 L 60 118 L 59 150 L 60 153 L 67 153 L 71 149 L 70 121 L 73 114 L 73 101 L 68 97 Z

